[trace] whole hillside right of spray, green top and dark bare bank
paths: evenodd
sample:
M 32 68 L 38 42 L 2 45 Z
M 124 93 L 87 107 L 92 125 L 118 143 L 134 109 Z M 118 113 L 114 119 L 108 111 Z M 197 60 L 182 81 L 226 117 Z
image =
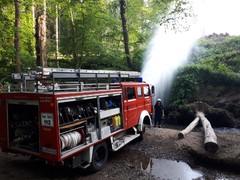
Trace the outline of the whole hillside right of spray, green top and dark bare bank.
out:
M 195 117 L 189 107 L 202 101 L 213 126 L 240 127 L 239 70 L 239 36 L 213 34 L 200 39 L 173 83 L 169 119 L 188 124 Z

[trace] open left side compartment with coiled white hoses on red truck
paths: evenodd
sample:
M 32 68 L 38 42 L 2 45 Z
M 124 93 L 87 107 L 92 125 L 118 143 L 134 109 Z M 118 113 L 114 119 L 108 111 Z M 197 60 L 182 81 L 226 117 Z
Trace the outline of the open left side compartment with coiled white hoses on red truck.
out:
M 96 129 L 97 99 L 59 102 L 60 141 L 62 153 L 87 144 L 88 128 Z

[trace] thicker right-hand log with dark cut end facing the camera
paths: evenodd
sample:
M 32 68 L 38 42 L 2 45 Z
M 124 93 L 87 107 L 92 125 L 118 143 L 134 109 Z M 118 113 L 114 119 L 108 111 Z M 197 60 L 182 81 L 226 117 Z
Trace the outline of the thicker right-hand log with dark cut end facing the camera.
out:
M 218 143 L 217 136 L 208 121 L 208 119 L 204 116 L 202 112 L 198 112 L 197 115 L 201 119 L 201 123 L 203 125 L 205 139 L 204 139 L 204 149 L 208 152 L 215 153 L 218 151 Z

